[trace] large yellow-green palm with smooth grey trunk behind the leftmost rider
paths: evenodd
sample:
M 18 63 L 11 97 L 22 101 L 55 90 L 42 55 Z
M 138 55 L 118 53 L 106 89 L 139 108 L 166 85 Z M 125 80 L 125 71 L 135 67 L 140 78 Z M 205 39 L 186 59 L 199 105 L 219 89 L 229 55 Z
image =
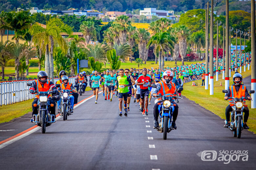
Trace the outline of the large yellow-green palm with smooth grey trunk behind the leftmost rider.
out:
M 63 23 L 59 18 L 50 18 L 46 21 L 46 28 L 39 23 L 33 24 L 29 33 L 32 35 L 32 41 L 39 46 L 45 45 L 45 71 L 53 78 L 53 47 L 57 43 L 62 50 L 67 50 L 68 46 L 65 39 L 60 35 L 61 32 L 72 34 L 72 27 Z M 49 54 L 49 45 L 50 54 Z

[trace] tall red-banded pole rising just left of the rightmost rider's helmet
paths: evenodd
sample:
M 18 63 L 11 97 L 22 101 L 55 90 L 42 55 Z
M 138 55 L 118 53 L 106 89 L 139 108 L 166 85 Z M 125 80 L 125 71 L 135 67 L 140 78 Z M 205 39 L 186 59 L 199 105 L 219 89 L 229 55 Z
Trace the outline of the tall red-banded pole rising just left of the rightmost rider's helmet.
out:
M 225 89 L 229 88 L 229 44 L 228 44 L 228 37 L 229 37 L 229 8 L 228 8 L 228 0 L 226 0 L 226 61 L 225 61 Z

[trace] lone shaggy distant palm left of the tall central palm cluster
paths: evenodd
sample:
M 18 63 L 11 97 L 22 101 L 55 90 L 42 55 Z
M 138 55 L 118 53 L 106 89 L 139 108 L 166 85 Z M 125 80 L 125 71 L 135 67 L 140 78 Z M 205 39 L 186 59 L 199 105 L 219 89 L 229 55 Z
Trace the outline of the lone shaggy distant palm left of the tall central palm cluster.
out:
M 92 38 L 96 39 L 96 28 L 94 26 L 94 22 L 84 21 L 80 25 L 80 30 L 83 33 L 83 37 L 87 44 L 90 42 Z

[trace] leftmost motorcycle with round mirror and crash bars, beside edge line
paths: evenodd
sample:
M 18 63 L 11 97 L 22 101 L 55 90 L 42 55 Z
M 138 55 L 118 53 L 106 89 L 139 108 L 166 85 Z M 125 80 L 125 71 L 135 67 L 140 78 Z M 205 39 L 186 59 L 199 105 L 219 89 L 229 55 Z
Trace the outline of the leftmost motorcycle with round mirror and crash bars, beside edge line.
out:
M 32 86 L 32 83 L 27 83 L 27 86 Z M 50 104 L 50 98 L 48 95 L 50 93 L 55 93 L 55 92 L 37 92 L 34 91 L 34 93 L 37 93 L 39 95 L 39 99 L 37 104 L 35 103 L 33 106 L 38 107 L 38 114 L 33 115 L 33 123 L 37 126 L 42 127 L 41 131 L 42 133 L 45 133 L 46 127 L 50 126 L 52 123 L 55 122 L 55 115 L 50 114 L 48 108 L 51 106 L 53 107 L 53 104 Z

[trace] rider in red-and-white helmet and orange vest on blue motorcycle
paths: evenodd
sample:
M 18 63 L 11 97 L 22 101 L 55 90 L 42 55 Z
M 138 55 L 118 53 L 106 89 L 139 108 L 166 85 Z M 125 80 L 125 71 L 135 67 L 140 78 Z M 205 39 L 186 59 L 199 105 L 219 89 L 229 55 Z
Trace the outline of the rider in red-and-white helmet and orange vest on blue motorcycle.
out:
M 173 96 L 175 96 L 176 94 L 174 94 L 176 92 L 176 86 L 175 84 L 172 82 L 173 80 L 173 73 L 169 70 L 165 71 L 162 74 L 162 81 L 156 83 L 157 88 L 152 88 L 151 94 L 154 97 L 154 95 L 157 94 L 173 94 Z M 154 124 L 154 128 L 158 128 L 158 116 L 159 116 L 159 111 L 158 111 L 158 103 L 162 102 L 161 100 L 158 101 L 155 106 L 154 106 L 154 118 L 155 118 L 155 124 Z M 171 103 L 175 104 L 176 106 L 174 106 L 174 111 L 173 111 L 173 122 L 172 122 L 172 127 L 173 128 L 177 128 L 176 127 L 176 119 L 178 116 L 178 105 L 175 101 L 171 101 Z

